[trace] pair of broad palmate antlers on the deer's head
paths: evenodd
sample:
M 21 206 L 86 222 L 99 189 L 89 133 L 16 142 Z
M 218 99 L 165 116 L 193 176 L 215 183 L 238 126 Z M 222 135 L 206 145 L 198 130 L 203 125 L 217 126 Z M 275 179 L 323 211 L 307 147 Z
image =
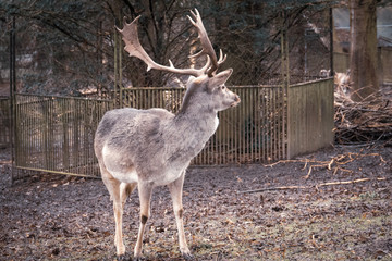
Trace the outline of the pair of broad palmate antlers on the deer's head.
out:
M 127 51 L 130 53 L 130 57 L 136 57 L 136 58 L 140 59 L 142 61 L 144 61 L 147 64 L 147 71 L 149 71 L 151 69 L 156 69 L 156 70 L 167 71 L 167 72 L 176 73 L 176 74 L 193 75 L 196 77 L 204 75 L 207 72 L 208 76 L 211 77 L 215 74 L 215 72 L 218 70 L 219 65 L 224 62 L 226 55 L 224 55 L 224 58 L 222 58 L 222 55 L 223 55 L 222 50 L 220 50 L 220 59 L 219 59 L 219 61 L 217 60 L 217 54 L 213 51 L 212 45 L 208 38 L 208 35 L 206 33 L 204 25 L 203 25 L 200 14 L 197 11 L 197 9 L 195 9 L 195 12 L 196 12 L 196 14 L 191 11 L 191 13 L 196 22 L 194 22 L 189 16 L 188 16 L 188 18 L 189 18 L 191 23 L 198 30 L 203 50 L 192 57 L 196 58 L 196 57 L 200 57 L 201 54 L 207 54 L 206 65 L 198 70 L 197 69 L 176 69 L 176 67 L 174 67 L 173 63 L 170 60 L 169 60 L 170 66 L 164 66 L 164 65 L 154 62 L 152 59 L 144 50 L 144 48 L 142 47 L 139 39 L 138 39 L 137 21 L 140 18 L 140 16 L 137 16 L 131 24 L 127 24 L 126 20 L 124 17 L 124 28 L 123 29 L 117 28 L 117 29 L 123 35 L 123 40 L 125 42 L 125 51 Z M 211 61 L 212 61 L 212 66 L 210 66 Z

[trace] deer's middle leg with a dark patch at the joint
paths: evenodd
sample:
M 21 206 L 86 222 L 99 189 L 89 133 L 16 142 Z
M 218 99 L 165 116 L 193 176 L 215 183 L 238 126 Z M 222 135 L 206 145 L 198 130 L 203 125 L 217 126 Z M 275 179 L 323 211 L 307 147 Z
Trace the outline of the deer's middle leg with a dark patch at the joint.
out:
M 140 225 L 137 235 L 134 257 L 138 260 L 142 257 L 144 231 L 148 217 L 150 216 L 150 201 L 152 195 L 152 186 L 150 184 L 138 183 L 137 189 L 140 201 Z

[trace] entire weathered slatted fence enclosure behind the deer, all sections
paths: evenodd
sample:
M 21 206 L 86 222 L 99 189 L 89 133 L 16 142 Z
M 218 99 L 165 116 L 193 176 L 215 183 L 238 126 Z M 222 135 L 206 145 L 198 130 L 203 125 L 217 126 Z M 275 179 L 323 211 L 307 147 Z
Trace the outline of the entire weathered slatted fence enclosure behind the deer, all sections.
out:
M 243 164 L 290 159 L 333 141 L 333 82 L 231 87 L 238 107 L 219 113 L 220 125 L 193 164 Z M 183 88 L 122 90 L 124 107 L 180 109 Z M 99 176 L 93 141 L 112 101 L 16 95 L 16 169 Z M 17 178 L 14 177 L 14 178 Z

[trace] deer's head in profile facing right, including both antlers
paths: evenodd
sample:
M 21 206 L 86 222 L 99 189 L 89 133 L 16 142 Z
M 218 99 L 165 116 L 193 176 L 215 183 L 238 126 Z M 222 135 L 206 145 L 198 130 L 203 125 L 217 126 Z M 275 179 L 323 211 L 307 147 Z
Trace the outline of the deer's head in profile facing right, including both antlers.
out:
M 188 18 L 197 28 L 198 37 L 203 47 L 201 51 L 191 55 L 191 58 L 207 55 L 207 62 L 201 69 L 176 69 L 170 60 L 170 66 L 164 66 L 154 62 L 144 50 L 138 39 L 137 21 L 140 16 L 136 17 L 131 24 L 127 24 L 124 18 L 124 28 L 118 28 L 123 35 L 125 51 L 130 53 L 130 57 L 137 57 L 143 60 L 147 64 L 147 71 L 156 69 L 191 76 L 187 82 L 187 91 L 184 97 L 182 110 L 186 110 L 189 104 L 197 104 L 200 102 L 203 102 L 205 107 L 213 109 L 215 111 L 222 111 L 230 107 L 234 107 L 240 103 L 240 97 L 229 90 L 224 85 L 233 70 L 229 69 L 218 73 L 218 69 L 225 61 L 226 55 L 223 55 L 222 50 L 220 50 L 218 60 L 207 32 L 203 25 L 199 12 L 195 9 L 195 12 L 191 11 L 191 14 L 193 18 L 191 16 L 188 16 Z

